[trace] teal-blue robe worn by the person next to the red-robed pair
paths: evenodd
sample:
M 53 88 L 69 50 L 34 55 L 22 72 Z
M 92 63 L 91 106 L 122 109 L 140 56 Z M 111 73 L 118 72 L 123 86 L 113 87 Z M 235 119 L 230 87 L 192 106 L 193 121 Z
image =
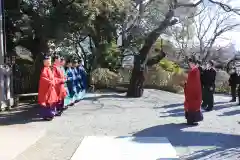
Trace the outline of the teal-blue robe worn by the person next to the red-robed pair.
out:
M 66 86 L 67 86 L 67 91 L 68 91 L 68 95 L 65 98 L 66 100 L 66 104 L 64 102 L 65 105 L 69 105 L 74 103 L 75 101 L 75 94 L 76 94 L 76 86 L 74 83 L 74 73 L 72 68 L 67 68 L 66 69 L 66 75 L 67 75 L 67 82 L 66 82 Z

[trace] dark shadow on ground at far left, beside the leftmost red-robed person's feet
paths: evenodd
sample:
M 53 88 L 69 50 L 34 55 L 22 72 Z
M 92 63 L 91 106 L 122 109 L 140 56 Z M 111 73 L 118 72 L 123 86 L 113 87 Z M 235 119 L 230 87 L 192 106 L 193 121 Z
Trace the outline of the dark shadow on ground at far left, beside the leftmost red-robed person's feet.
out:
M 10 111 L 0 112 L 0 125 L 26 124 L 42 121 L 37 105 L 22 105 Z

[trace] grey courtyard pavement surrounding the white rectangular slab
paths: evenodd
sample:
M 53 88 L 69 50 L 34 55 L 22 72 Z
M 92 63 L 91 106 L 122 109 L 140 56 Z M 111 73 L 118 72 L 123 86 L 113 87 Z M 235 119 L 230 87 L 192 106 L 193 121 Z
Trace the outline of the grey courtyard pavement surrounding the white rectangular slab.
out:
M 167 137 L 182 159 L 240 159 L 240 106 L 215 96 L 216 106 L 199 126 L 185 124 L 183 95 L 145 90 L 144 96 L 89 94 L 52 122 L 32 122 L 46 134 L 16 160 L 70 159 L 84 136 Z M 94 154 L 94 150 L 92 151 Z

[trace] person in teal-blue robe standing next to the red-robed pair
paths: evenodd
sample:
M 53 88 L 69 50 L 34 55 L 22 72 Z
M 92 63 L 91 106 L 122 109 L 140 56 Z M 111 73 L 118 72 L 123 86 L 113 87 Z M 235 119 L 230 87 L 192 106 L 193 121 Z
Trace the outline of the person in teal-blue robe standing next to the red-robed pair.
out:
M 65 105 L 73 106 L 74 102 L 75 102 L 75 97 L 74 96 L 76 94 L 76 87 L 75 87 L 75 82 L 74 82 L 74 79 L 75 79 L 74 76 L 75 75 L 74 75 L 74 72 L 72 70 L 71 60 L 66 61 L 65 72 L 66 72 L 66 75 L 67 75 L 66 86 L 67 86 L 68 95 L 65 98 L 64 103 L 65 103 Z

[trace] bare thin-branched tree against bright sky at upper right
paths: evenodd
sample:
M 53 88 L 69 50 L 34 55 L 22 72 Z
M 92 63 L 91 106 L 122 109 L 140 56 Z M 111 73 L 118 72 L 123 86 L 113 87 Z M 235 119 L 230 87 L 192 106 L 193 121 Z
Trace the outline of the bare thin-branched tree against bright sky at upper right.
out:
M 204 61 L 209 58 L 215 42 L 237 29 L 240 21 L 236 20 L 235 12 L 226 12 L 221 6 L 202 3 L 198 7 L 201 13 L 194 18 L 194 26 L 198 52 Z

